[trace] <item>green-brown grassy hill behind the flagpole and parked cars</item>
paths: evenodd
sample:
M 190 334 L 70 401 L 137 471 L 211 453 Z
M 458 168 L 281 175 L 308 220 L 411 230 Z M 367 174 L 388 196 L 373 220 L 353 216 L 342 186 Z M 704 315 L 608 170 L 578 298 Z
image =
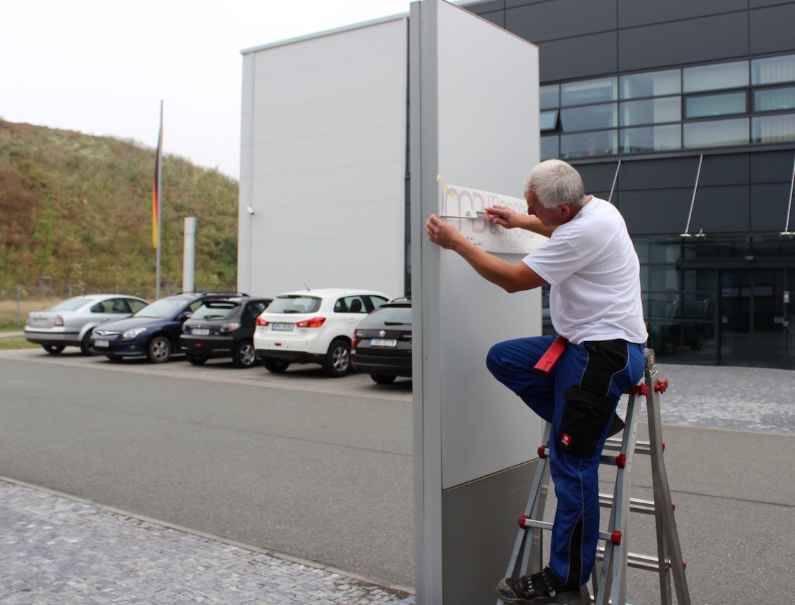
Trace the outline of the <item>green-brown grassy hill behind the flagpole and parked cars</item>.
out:
M 153 169 L 135 142 L 0 119 L 0 288 L 44 276 L 153 291 Z M 237 181 L 165 155 L 162 191 L 162 283 L 180 289 L 184 217 L 196 217 L 196 290 L 234 289 Z

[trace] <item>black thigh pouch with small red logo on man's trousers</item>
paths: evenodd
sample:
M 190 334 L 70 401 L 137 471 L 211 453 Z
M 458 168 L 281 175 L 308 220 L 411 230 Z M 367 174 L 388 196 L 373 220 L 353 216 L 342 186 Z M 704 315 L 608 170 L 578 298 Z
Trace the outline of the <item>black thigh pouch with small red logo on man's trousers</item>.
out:
M 615 401 L 593 395 L 580 387 L 563 393 L 566 403 L 557 433 L 557 445 L 573 455 L 585 458 L 596 450 L 599 436 L 614 417 Z

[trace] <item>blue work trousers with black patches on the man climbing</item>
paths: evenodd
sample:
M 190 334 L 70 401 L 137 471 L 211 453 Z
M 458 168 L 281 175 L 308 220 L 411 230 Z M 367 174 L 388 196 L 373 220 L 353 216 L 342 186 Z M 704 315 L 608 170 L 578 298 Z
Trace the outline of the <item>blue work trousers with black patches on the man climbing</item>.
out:
M 619 398 L 643 375 L 644 347 L 620 340 L 568 343 L 548 377 L 533 373 L 533 366 L 554 340 L 554 336 L 537 336 L 500 342 L 489 351 L 487 367 L 533 412 L 552 424 L 549 470 L 557 509 L 549 568 L 561 583 L 581 586 L 588 583 L 599 535 L 599 457 Z M 571 400 L 589 398 L 595 407 L 601 407 L 607 420 L 604 427 L 602 420 L 591 422 L 595 449 L 578 455 L 567 451 L 567 425 L 579 405 Z M 567 400 L 572 408 L 564 415 Z

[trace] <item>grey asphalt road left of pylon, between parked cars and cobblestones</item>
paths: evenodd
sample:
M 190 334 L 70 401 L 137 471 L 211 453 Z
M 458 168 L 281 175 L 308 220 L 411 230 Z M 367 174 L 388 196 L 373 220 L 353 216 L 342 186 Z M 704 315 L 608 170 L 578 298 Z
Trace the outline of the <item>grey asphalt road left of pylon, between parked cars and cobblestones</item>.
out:
M 0 352 L 0 476 L 413 586 L 410 381 L 71 351 Z

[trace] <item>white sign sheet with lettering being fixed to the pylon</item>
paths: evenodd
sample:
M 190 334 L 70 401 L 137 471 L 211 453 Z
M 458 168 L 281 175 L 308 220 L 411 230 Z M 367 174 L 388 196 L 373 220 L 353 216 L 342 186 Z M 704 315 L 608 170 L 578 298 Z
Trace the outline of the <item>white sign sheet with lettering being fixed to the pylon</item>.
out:
M 486 252 L 525 255 L 546 241 L 545 236 L 525 229 L 506 229 L 494 224 L 486 213 L 491 206 L 506 206 L 514 212 L 525 214 L 525 200 L 460 185 L 447 185 L 441 179 L 439 182 L 443 192 L 441 218 Z

